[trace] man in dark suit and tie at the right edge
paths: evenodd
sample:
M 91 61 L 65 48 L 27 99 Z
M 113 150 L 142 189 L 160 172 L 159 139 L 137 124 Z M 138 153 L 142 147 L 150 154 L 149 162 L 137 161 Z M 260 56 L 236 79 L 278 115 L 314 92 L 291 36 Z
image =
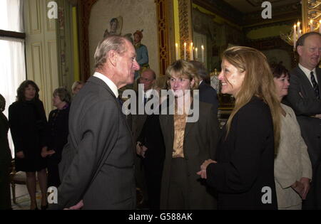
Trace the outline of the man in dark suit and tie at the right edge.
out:
M 297 40 L 299 65 L 290 74 L 285 103 L 297 115 L 312 163 L 312 184 L 303 209 L 321 209 L 321 34 L 305 33 Z M 308 184 L 305 185 L 308 188 Z M 305 189 L 307 191 L 308 189 Z

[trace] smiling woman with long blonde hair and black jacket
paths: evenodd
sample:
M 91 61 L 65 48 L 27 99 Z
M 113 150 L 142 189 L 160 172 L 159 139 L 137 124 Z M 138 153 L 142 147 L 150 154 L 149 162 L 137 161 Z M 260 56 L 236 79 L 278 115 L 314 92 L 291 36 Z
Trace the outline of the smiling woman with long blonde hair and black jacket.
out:
M 198 174 L 218 191 L 219 209 L 277 209 L 275 149 L 280 142 L 280 102 L 263 53 L 233 47 L 223 53 L 222 93 L 235 97 L 216 161 Z

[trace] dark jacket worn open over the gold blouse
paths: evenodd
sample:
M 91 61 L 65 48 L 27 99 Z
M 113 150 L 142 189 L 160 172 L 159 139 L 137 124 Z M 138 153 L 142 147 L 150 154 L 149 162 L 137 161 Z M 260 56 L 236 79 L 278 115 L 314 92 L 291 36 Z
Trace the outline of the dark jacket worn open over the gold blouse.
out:
M 163 105 L 162 105 L 163 106 Z M 188 170 L 188 198 L 190 209 L 214 209 L 216 201 L 206 188 L 204 181 L 196 174 L 206 159 L 214 159 L 218 142 L 218 119 L 213 116 L 214 108 L 200 102 L 198 122 L 188 122 L 185 126 L 183 151 Z M 174 142 L 174 117 L 170 114 L 160 115 L 161 129 L 165 142 L 165 161 L 161 184 L 161 209 L 168 209 L 168 191 L 170 186 L 170 169 Z

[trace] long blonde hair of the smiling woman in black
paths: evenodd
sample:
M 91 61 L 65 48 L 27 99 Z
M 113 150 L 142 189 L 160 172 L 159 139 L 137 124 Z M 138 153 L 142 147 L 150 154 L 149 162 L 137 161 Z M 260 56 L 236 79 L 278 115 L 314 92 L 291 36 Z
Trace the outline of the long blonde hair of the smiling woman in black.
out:
M 227 122 L 226 136 L 228 136 L 235 114 L 241 107 L 250 102 L 253 96 L 256 96 L 270 107 L 276 155 L 280 143 L 281 107 L 276 94 L 273 75 L 265 55 L 254 48 L 235 46 L 225 50 L 223 60 L 235 66 L 240 73 L 245 72 L 240 91 L 235 96 L 235 107 Z

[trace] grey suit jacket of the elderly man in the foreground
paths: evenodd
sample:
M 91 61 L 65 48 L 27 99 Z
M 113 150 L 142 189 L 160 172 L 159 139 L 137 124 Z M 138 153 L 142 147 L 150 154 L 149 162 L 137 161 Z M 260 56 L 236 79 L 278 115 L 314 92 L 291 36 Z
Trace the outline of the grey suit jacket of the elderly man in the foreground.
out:
M 71 103 L 68 144 L 59 164 L 58 208 L 134 209 L 131 130 L 103 80 L 91 77 Z

